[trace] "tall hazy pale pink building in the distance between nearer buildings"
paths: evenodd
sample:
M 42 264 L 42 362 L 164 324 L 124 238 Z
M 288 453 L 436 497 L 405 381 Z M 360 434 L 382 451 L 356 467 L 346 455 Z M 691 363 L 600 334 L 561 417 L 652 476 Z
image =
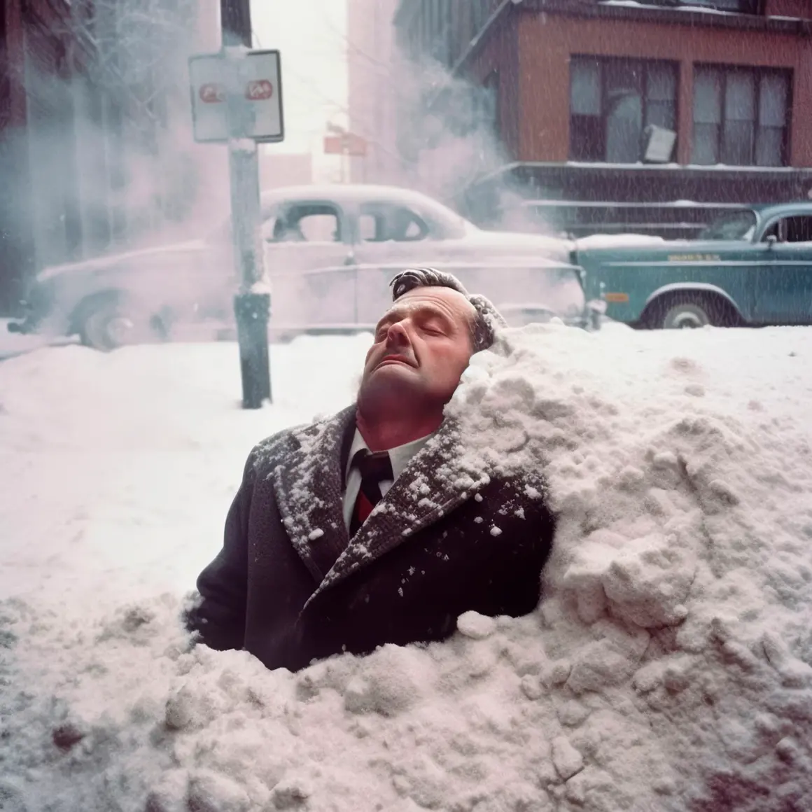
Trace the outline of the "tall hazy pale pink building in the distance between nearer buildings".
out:
M 355 183 L 398 183 L 398 54 L 392 20 L 397 0 L 347 0 L 349 131 L 366 141 L 366 155 L 348 158 Z

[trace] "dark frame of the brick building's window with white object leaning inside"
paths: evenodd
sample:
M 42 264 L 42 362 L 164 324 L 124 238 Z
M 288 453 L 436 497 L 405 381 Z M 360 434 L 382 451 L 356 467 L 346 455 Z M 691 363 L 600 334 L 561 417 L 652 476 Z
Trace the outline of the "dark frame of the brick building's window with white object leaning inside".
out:
M 573 139 L 572 139 L 572 119 L 575 114 L 572 113 L 572 64 L 577 61 L 583 62 L 594 62 L 598 64 L 598 95 L 599 95 L 599 102 L 600 102 L 600 114 L 598 116 L 590 116 L 585 114 L 577 114 L 579 118 L 591 118 L 591 119 L 599 119 L 601 122 L 601 136 L 602 136 L 602 152 L 603 158 L 583 158 L 581 156 L 577 156 L 572 152 L 573 148 Z M 598 54 L 572 54 L 569 59 L 569 145 L 568 145 L 568 160 L 570 161 L 581 161 L 581 162 L 594 162 L 594 163 L 613 163 L 614 161 L 610 161 L 607 157 L 607 123 L 609 120 L 608 116 L 608 105 L 607 105 L 607 66 L 614 64 L 633 64 L 641 69 L 641 91 L 640 91 L 640 98 L 641 98 L 641 144 L 640 149 L 638 152 L 638 156 L 635 159 L 635 162 L 643 160 L 643 137 L 644 133 L 646 132 L 646 127 L 649 126 L 649 123 L 646 123 L 646 119 L 648 118 L 648 110 L 649 104 L 651 101 L 649 98 L 649 83 L 650 83 L 650 68 L 651 67 L 670 67 L 672 70 L 672 75 L 674 78 L 674 97 L 673 97 L 673 110 L 674 110 L 674 129 L 673 132 L 676 132 L 676 140 L 674 142 L 674 146 L 672 149 L 672 156 L 676 154 L 678 149 L 678 142 L 680 139 L 680 132 L 679 132 L 679 122 L 680 122 L 680 63 L 676 62 L 673 59 L 645 59 L 645 58 L 627 58 L 627 57 L 619 57 L 619 56 L 603 56 Z M 658 100 L 662 101 L 662 100 Z

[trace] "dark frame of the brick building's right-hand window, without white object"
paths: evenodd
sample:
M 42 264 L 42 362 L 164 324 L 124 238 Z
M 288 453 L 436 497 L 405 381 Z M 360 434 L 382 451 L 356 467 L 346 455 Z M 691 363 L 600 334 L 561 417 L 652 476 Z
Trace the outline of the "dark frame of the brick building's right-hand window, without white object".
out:
M 699 71 L 718 71 L 719 75 L 723 77 L 723 83 L 721 87 L 721 92 L 719 93 L 719 110 L 720 110 L 720 121 L 719 121 L 719 132 L 716 135 L 716 143 L 715 143 L 715 155 L 716 155 L 716 163 L 710 164 L 699 164 L 696 161 L 696 149 L 697 149 L 697 136 L 696 136 L 696 107 L 695 107 L 695 98 L 696 98 L 696 85 L 697 85 L 697 75 Z M 726 110 L 728 104 L 728 81 L 730 76 L 733 73 L 745 73 L 752 77 L 754 81 L 754 89 L 755 89 L 755 97 L 754 97 L 754 119 L 753 119 L 753 144 L 752 148 L 750 149 L 750 158 L 749 162 L 747 163 L 730 163 L 724 160 L 726 156 L 723 155 L 723 145 L 725 139 L 725 130 L 728 125 L 728 121 L 737 120 L 737 119 L 728 119 Z M 762 80 L 765 76 L 780 76 L 786 81 L 784 93 L 784 126 L 782 127 L 781 133 L 781 146 L 780 146 L 780 162 L 778 164 L 762 164 L 757 163 L 756 158 L 758 155 L 758 132 L 762 128 L 761 123 L 759 123 L 759 111 L 761 110 L 761 93 L 762 93 Z M 693 65 L 693 86 L 692 86 L 692 106 L 693 110 L 691 111 L 691 163 L 696 166 L 716 166 L 718 164 L 723 164 L 725 166 L 760 166 L 762 168 L 770 168 L 771 166 L 775 169 L 779 169 L 780 167 L 789 166 L 789 160 L 791 155 L 790 150 L 790 136 L 792 131 L 792 123 L 793 123 L 793 83 L 794 83 L 794 71 L 792 68 L 786 67 L 771 67 L 771 66 L 753 66 L 753 65 L 730 65 L 730 64 L 719 64 L 719 63 L 695 63 Z

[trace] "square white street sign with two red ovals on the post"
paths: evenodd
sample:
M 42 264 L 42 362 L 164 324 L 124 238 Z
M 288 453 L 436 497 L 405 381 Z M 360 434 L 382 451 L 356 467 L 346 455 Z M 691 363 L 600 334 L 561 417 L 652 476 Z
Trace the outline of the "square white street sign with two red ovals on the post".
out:
M 189 79 L 196 141 L 284 139 L 278 50 L 197 54 L 189 58 Z

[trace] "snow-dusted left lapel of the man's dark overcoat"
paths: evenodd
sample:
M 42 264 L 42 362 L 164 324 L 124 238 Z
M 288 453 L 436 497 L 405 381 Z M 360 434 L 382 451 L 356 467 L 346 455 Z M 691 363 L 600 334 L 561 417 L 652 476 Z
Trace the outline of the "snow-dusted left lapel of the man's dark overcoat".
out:
M 272 474 L 287 535 L 313 578 L 321 583 L 347 546 L 342 451 L 352 439 L 355 405 L 335 417 L 293 430 L 298 444 Z

